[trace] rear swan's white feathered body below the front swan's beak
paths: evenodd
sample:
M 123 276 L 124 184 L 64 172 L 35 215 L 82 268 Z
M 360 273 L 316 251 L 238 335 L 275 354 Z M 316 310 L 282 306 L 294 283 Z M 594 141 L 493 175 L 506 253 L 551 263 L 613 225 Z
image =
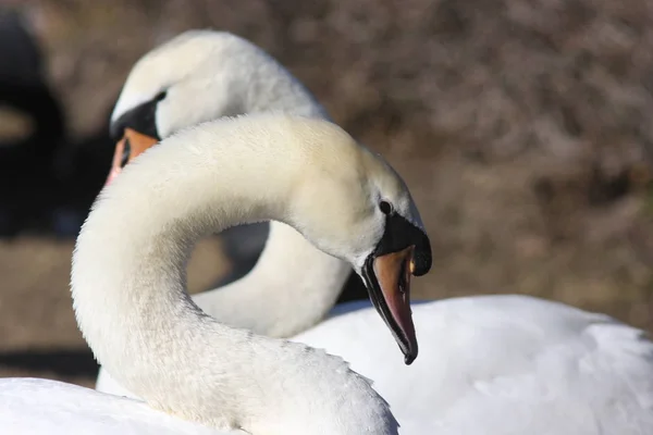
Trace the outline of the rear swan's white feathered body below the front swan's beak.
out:
M 410 366 L 372 308 L 293 340 L 373 380 L 403 434 L 653 433 L 653 343 L 640 330 L 513 295 L 432 301 L 412 314 L 420 348 Z

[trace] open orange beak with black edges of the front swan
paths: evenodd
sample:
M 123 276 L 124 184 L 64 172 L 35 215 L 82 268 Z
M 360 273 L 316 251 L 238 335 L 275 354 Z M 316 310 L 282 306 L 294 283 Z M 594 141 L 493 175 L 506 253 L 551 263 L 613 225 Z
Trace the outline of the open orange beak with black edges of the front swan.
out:
M 378 283 L 378 286 L 374 286 L 378 288 L 377 291 L 370 291 L 372 302 L 397 340 L 407 365 L 415 361 L 418 352 L 412 311 L 410 310 L 410 275 L 415 270 L 414 252 L 415 246 L 411 245 L 397 252 L 378 256 L 371 262 L 371 269 Z M 380 295 L 378 295 L 379 293 Z

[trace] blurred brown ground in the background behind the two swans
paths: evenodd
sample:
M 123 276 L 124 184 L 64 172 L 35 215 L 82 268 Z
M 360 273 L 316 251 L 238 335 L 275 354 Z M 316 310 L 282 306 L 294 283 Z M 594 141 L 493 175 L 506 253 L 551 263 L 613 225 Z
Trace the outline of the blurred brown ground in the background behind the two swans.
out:
M 34 28 L 69 148 L 93 147 L 76 140 L 106 127 L 141 54 L 188 28 L 226 29 L 404 175 L 434 249 L 416 297 L 522 293 L 653 331 L 649 0 L 0 4 Z M 0 112 L 5 129 L 21 122 Z M 73 243 L 0 241 L 0 375 L 93 384 L 67 289 Z M 232 268 L 221 247 L 195 252 L 193 291 Z

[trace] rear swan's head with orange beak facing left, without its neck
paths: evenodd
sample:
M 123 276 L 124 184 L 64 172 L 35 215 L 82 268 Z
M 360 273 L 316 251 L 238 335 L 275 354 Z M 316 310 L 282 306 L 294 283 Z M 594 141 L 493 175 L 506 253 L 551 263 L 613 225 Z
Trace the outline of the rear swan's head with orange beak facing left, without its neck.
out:
M 197 105 L 208 100 L 200 94 L 207 77 L 199 72 L 211 51 L 211 34 L 187 32 L 136 62 L 111 114 L 109 130 L 116 146 L 107 184 L 162 138 L 212 117 Z

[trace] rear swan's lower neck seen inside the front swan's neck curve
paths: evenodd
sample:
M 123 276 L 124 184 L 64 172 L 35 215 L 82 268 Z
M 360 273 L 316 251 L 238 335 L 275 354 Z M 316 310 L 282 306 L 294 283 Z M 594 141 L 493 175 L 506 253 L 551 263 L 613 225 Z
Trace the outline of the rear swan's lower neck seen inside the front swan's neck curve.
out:
M 350 272 L 346 262 L 273 221 L 266 247 L 246 276 L 194 295 L 193 300 L 229 325 L 269 337 L 292 337 L 329 313 Z

